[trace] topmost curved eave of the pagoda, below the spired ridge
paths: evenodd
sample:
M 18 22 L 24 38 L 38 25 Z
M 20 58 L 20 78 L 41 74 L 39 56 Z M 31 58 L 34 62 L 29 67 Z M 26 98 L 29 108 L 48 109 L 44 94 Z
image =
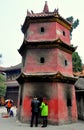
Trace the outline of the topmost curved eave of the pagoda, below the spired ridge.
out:
M 44 15 L 31 15 L 26 16 L 24 24 L 21 28 L 22 32 L 25 34 L 30 23 L 42 23 L 42 22 L 58 22 L 67 29 L 71 30 L 72 24 L 68 22 L 66 19 L 61 17 L 59 14 L 44 14 Z

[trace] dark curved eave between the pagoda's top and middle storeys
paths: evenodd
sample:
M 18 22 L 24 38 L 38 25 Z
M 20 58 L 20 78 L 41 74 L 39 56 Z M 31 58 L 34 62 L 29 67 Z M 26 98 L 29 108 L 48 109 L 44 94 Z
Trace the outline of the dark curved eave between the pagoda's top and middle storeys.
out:
M 77 47 L 72 47 L 66 43 L 64 43 L 62 40 L 57 39 L 53 41 L 26 41 L 24 40 L 23 44 L 21 45 L 20 49 L 18 50 L 21 55 L 24 54 L 26 49 L 30 48 L 59 48 L 67 53 L 72 54 Z

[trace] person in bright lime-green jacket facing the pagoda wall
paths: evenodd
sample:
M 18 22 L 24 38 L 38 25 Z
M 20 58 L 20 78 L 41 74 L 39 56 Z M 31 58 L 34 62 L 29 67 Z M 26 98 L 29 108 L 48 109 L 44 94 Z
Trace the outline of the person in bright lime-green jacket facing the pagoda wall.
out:
M 47 123 L 48 123 L 48 105 L 47 105 L 47 103 L 46 102 L 42 102 L 41 103 L 41 106 L 40 106 L 40 108 L 41 108 L 41 117 L 42 117 L 42 119 L 43 119 L 43 125 L 42 125 L 42 127 L 47 127 Z

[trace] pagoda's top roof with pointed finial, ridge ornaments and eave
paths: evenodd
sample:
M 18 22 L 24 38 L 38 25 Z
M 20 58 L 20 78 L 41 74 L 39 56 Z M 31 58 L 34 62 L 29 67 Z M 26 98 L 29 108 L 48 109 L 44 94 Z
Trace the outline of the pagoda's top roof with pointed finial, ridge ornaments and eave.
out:
M 44 9 L 40 13 L 34 13 L 33 11 L 29 12 L 27 10 L 27 16 L 21 28 L 22 32 L 25 34 L 29 24 L 36 23 L 37 21 L 38 22 L 56 21 L 65 26 L 66 28 L 68 28 L 69 30 L 72 28 L 72 23 L 64 19 L 62 16 L 60 16 L 58 9 L 54 9 L 53 12 L 49 11 L 47 1 L 45 1 Z

